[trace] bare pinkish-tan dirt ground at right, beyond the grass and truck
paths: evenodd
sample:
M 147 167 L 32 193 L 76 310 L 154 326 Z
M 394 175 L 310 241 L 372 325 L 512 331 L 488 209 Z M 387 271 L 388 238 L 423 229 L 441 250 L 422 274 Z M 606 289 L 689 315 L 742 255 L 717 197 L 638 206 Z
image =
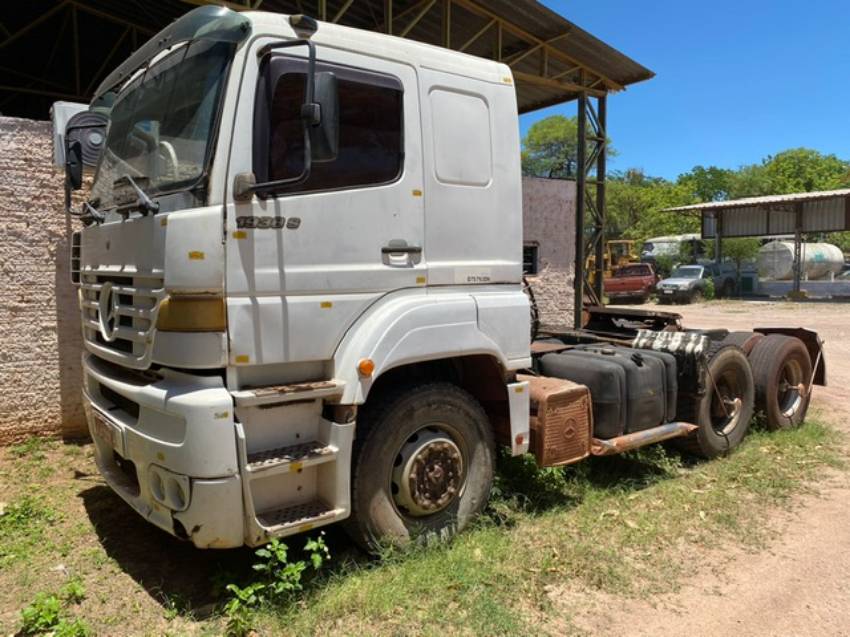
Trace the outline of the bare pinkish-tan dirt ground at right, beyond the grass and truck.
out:
M 647 306 L 648 307 L 648 306 Z M 661 308 L 686 326 L 751 329 L 771 325 L 817 330 L 826 341 L 826 388 L 812 409 L 850 434 L 850 304 L 714 302 Z M 766 520 L 777 531 L 767 550 L 712 556 L 676 593 L 628 602 L 586 591 L 552 591 L 556 608 L 575 609 L 590 634 L 620 635 L 850 635 L 850 479 L 824 476 L 819 493 L 792 515 Z M 590 603 L 587 603 L 589 600 Z

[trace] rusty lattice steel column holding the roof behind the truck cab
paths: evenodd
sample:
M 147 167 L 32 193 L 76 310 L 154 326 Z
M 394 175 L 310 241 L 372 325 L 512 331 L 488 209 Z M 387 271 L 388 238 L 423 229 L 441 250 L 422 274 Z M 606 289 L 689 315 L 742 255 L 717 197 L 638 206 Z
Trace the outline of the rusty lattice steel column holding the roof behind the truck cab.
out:
M 596 106 L 594 107 L 594 101 Z M 578 100 L 576 166 L 576 262 L 574 324 L 582 325 L 584 300 L 602 302 L 605 273 L 605 182 L 607 172 L 608 117 L 605 95 L 582 93 Z M 593 255 L 593 277 L 586 258 Z

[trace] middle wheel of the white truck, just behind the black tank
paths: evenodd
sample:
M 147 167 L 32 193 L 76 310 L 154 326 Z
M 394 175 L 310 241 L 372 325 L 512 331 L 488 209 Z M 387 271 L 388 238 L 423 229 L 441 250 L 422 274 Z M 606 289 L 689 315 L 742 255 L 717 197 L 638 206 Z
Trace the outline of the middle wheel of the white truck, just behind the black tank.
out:
M 699 426 L 699 429 L 680 441 L 679 446 L 703 458 L 716 458 L 735 449 L 750 427 L 755 404 L 755 383 L 747 357 L 738 347 L 717 344 L 709 354 L 706 392 L 698 400 L 680 401 L 679 419 Z M 721 404 L 718 391 L 726 402 Z M 740 400 L 737 406 L 732 399 Z M 724 412 L 723 407 L 726 407 Z M 731 417 L 727 412 L 731 411 Z

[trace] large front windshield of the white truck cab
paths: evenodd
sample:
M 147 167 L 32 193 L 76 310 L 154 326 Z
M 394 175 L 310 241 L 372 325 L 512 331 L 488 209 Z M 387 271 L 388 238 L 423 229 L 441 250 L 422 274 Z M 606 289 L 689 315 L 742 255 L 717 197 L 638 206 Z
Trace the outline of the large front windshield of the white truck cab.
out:
M 92 187 L 100 208 L 116 203 L 130 175 L 148 194 L 193 186 L 209 160 L 233 44 L 196 40 L 155 61 L 118 95 Z M 135 196 L 132 197 L 135 200 Z

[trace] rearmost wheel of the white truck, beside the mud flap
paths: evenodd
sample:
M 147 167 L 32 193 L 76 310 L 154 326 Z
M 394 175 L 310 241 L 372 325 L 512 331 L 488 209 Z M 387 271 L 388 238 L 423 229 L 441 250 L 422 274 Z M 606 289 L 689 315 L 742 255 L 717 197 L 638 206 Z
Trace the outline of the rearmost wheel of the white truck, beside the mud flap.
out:
M 812 360 L 803 342 L 792 336 L 768 334 L 750 352 L 756 383 L 756 408 L 767 428 L 776 431 L 799 426 L 811 400 Z M 796 385 L 804 385 L 801 393 Z

